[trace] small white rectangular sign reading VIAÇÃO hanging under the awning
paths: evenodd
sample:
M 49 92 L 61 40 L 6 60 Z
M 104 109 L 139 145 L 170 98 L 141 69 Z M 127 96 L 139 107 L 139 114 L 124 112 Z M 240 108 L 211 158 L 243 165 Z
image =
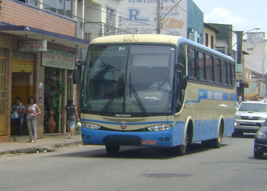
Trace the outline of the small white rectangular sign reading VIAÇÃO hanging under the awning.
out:
M 19 52 L 46 52 L 46 40 L 20 41 Z

